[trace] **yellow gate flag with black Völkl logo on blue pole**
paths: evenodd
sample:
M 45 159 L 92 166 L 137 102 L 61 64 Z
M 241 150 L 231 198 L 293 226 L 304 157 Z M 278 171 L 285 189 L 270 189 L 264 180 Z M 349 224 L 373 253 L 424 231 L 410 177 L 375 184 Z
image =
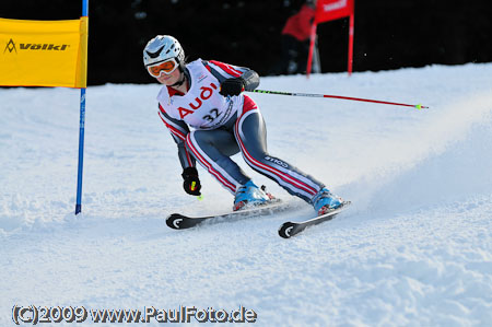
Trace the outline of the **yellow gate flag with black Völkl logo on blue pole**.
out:
M 0 19 L 0 85 L 86 87 L 89 17 Z

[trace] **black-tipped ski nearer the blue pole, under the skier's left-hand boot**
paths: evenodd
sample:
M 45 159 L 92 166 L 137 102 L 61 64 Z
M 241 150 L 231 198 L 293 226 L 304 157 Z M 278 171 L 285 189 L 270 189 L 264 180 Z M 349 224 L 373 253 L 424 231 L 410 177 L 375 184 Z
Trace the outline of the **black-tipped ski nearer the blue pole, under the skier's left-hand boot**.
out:
M 238 218 L 248 218 L 257 215 L 272 214 L 277 212 L 286 211 L 292 209 L 292 206 L 283 203 L 280 199 L 268 202 L 267 205 L 260 205 L 250 209 L 244 209 L 233 211 L 224 214 L 203 215 L 203 217 L 188 217 L 180 213 L 173 213 L 166 218 L 166 224 L 173 230 L 185 230 L 194 227 L 206 221 L 232 221 Z

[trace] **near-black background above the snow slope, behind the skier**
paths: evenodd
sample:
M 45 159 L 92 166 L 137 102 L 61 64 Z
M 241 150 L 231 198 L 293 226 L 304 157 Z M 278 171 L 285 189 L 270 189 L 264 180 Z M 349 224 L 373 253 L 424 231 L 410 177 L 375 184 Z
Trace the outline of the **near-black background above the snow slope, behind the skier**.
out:
M 81 0 L 1 0 L 0 17 L 78 19 Z M 215 59 L 266 74 L 301 0 L 90 0 L 89 84 L 149 83 L 142 49 L 179 39 L 188 60 Z M 488 0 L 355 0 L 354 71 L 492 61 Z M 348 19 L 318 26 L 323 72 L 347 70 Z

